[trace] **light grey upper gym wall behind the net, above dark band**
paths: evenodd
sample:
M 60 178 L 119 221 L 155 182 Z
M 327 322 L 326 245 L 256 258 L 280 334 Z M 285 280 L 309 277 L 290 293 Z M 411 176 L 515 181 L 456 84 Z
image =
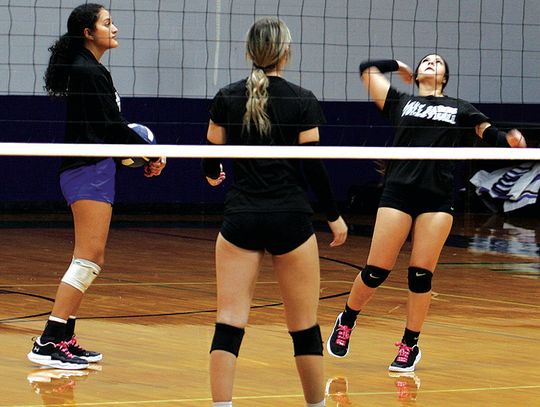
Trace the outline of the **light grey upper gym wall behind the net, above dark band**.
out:
M 0 93 L 42 95 L 48 47 L 81 0 L 0 2 Z M 471 102 L 537 103 L 540 4 L 535 0 L 106 0 L 120 47 L 102 61 L 122 96 L 209 98 L 249 70 L 245 34 L 262 16 L 289 26 L 287 77 L 321 100 L 362 101 L 358 63 L 409 65 L 437 52 L 447 92 Z

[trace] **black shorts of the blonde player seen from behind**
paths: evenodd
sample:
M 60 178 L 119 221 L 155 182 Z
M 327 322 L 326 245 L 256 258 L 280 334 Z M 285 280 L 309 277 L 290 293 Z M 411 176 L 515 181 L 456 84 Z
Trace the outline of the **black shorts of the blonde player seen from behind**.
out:
M 226 214 L 221 235 L 246 250 L 289 253 L 314 233 L 311 215 L 302 212 L 243 212 Z

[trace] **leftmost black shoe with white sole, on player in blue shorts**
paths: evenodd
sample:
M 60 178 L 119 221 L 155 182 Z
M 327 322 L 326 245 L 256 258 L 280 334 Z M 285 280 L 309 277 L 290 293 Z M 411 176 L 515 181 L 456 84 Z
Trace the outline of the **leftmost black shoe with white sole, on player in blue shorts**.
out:
M 54 367 L 56 369 L 78 370 L 86 369 L 88 362 L 74 356 L 68 349 L 66 342 L 41 343 L 38 337 L 34 342 L 32 351 L 28 354 L 28 359 L 39 365 Z

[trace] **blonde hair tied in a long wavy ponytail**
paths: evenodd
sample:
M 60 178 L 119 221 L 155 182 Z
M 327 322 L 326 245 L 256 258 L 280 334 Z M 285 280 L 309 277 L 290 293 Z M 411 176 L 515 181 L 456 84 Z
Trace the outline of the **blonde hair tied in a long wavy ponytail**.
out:
M 254 124 L 262 136 L 270 133 L 272 124 L 266 113 L 269 84 L 266 72 L 277 67 L 288 52 L 290 43 L 289 28 L 278 18 L 261 18 L 247 34 L 246 58 L 253 62 L 246 82 L 248 100 L 243 120 L 248 132 Z

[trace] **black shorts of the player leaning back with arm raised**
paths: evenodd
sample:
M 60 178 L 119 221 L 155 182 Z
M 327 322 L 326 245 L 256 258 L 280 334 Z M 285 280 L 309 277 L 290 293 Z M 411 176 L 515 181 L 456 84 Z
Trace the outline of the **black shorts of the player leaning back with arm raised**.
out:
M 422 213 L 446 212 L 452 214 L 452 198 L 434 195 L 432 192 L 399 185 L 386 185 L 384 187 L 379 208 L 394 208 L 416 218 Z

